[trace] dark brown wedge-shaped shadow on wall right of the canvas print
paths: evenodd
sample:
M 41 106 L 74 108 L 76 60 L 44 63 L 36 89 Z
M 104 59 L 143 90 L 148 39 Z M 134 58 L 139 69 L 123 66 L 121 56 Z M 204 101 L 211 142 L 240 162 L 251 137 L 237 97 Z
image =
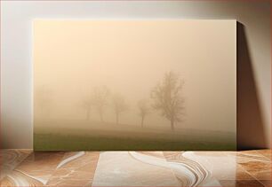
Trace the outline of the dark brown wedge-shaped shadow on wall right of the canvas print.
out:
M 244 25 L 237 22 L 237 150 L 266 148 L 263 126 Z

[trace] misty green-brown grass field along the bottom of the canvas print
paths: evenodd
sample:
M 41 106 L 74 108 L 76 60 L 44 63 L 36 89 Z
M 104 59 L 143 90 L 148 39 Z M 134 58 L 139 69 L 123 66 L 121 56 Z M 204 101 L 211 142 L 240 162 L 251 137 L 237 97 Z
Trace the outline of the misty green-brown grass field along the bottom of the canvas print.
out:
M 74 128 L 65 128 L 65 126 Z M 53 126 L 51 124 L 54 124 Z M 100 121 L 47 121 L 35 128 L 35 151 L 236 150 L 236 136 L 219 131 L 153 129 Z

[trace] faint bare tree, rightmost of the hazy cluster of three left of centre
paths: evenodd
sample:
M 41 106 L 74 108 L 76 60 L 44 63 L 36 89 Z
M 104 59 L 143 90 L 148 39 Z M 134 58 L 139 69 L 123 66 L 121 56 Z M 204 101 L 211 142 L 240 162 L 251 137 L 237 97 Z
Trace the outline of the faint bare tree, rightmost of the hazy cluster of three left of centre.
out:
M 113 96 L 113 108 L 116 114 L 116 124 L 119 124 L 119 116 L 128 109 L 128 105 L 125 104 L 124 97 L 120 94 Z

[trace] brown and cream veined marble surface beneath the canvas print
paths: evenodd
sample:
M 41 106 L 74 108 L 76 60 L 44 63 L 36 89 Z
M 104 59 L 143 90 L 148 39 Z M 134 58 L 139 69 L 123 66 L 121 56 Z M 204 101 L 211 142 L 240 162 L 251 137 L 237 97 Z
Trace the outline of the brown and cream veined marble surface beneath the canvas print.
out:
M 271 186 L 271 150 L 1 150 L 1 186 Z

